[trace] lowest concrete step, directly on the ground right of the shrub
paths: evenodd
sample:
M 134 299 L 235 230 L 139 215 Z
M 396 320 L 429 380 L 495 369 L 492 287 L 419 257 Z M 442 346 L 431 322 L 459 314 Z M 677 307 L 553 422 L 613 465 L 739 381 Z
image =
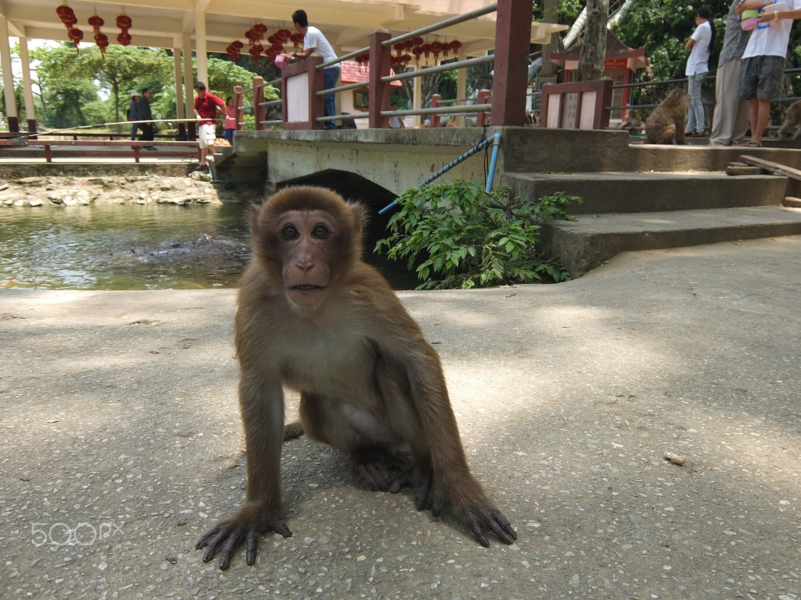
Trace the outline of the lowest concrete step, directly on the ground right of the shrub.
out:
M 574 222 L 545 222 L 541 231 L 545 251 L 562 258 L 562 265 L 570 274 L 579 277 L 615 254 L 630 250 L 801 234 L 801 209 L 749 206 L 594 216 L 582 214 Z

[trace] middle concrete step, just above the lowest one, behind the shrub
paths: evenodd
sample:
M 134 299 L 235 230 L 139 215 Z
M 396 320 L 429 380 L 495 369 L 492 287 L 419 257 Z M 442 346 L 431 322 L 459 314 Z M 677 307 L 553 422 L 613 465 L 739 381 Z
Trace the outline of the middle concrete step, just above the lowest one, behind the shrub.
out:
M 556 192 L 579 196 L 570 214 L 638 213 L 731 206 L 778 206 L 791 193 L 786 177 L 722 172 L 505 173 L 513 195 L 537 199 Z

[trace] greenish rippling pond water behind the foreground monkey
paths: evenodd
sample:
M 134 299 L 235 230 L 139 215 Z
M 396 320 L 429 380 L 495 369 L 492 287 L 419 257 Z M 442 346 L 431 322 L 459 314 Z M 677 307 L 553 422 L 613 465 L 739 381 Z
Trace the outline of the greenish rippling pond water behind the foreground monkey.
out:
M 0 287 L 235 287 L 250 255 L 248 216 L 241 205 L 2 208 Z M 378 266 L 396 289 L 417 285 L 399 264 Z

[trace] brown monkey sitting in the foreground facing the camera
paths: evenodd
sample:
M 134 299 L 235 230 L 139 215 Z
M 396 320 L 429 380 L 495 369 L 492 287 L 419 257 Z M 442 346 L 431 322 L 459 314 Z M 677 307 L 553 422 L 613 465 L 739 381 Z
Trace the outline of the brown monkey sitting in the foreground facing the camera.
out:
M 253 254 L 239 286 L 235 347 L 248 454 L 244 506 L 200 538 L 227 569 L 260 534 L 288 538 L 281 506 L 284 439 L 307 434 L 348 455 L 367 490 L 411 486 L 417 510 L 449 506 L 489 546 L 517 533 L 470 472 L 439 355 L 383 277 L 361 260 L 362 208 L 331 190 L 292 187 L 252 206 Z M 284 386 L 300 421 L 284 427 Z M 394 454 L 412 454 L 405 463 Z

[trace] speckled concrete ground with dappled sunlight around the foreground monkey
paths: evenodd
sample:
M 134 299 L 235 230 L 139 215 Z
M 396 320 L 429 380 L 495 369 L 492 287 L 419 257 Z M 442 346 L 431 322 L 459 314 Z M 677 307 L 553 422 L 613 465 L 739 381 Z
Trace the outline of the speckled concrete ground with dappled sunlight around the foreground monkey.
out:
M 0 594 L 795 600 L 799 256 L 776 238 L 400 294 L 517 543 L 358 490 L 299 438 L 294 537 L 225 572 L 194 544 L 244 498 L 234 293 L 0 290 Z

